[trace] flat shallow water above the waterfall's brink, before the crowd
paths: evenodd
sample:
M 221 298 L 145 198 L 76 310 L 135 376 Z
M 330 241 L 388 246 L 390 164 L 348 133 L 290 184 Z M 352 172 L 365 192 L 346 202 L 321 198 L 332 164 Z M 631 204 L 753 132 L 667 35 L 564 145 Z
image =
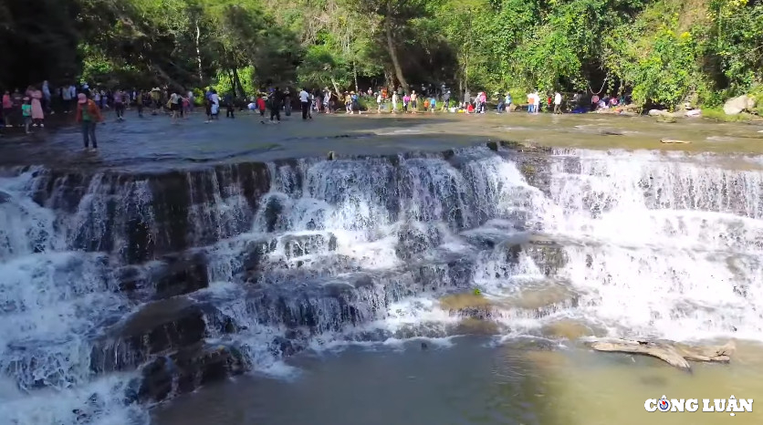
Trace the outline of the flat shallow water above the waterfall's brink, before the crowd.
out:
M 5 138 L 0 141 L 0 166 L 168 171 L 235 161 L 324 157 L 329 151 L 340 156 L 439 151 L 487 140 L 557 148 L 763 153 L 763 125 L 708 119 L 659 123 L 651 117 L 604 114 L 371 113 L 319 115 L 308 122 L 291 116 L 270 124 L 258 114 L 246 113 L 205 124 L 197 113 L 172 124 L 167 117 L 139 119 L 129 113 L 124 122 L 107 115 L 98 135 L 98 154 L 82 151 L 75 127 Z M 665 144 L 663 139 L 690 143 Z

